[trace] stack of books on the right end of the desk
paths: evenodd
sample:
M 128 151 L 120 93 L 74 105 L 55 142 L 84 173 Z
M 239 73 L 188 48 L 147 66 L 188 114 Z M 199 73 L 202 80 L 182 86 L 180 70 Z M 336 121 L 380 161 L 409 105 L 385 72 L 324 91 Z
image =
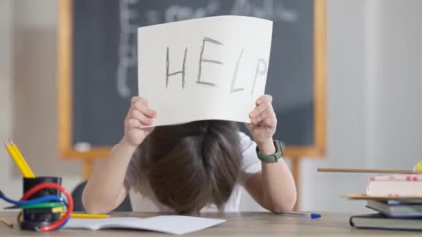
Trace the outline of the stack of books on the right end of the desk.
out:
M 352 216 L 357 228 L 422 230 L 422 175 L 371 177 L 364 195 L 348 195 L 366 200 L 366 207 L 378 213 Z

